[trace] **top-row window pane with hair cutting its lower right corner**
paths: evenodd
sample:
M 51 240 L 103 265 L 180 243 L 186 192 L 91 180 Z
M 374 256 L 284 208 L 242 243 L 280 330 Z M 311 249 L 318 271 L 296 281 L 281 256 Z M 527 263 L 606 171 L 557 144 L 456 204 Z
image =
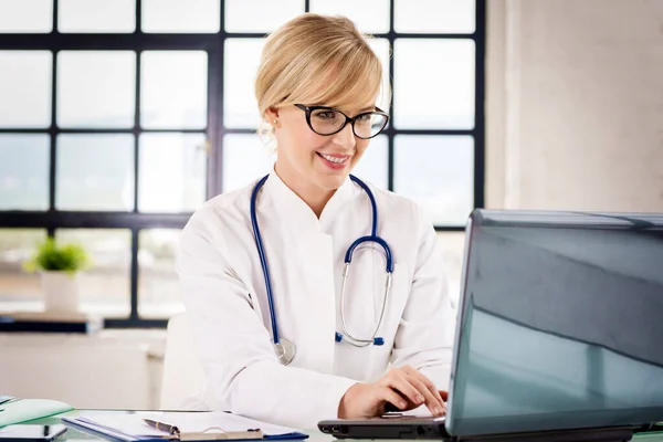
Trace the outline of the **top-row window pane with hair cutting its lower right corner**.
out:
M 301 13 L 304 0 L 225 0 L 225 31 L 267 33 Z

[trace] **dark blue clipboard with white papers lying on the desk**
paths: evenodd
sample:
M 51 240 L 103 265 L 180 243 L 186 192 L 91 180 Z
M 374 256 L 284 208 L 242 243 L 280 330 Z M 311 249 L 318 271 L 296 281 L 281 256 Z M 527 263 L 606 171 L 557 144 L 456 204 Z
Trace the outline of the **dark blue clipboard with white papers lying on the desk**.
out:
M 181 431 L 168 432 L 144 423 L 145 418 L 170 422 Z M 148 420 L 149 420 L 148 419 Z M 286 427 L 251 420 L 232 413 L 211 412 L 160 412 L 150 413 L 98 413 L 63 417 L 65 425 L 81 432 L 113 442 L 206 442 L 206 441 L 276 441 L 304 440 L 308 435 Z

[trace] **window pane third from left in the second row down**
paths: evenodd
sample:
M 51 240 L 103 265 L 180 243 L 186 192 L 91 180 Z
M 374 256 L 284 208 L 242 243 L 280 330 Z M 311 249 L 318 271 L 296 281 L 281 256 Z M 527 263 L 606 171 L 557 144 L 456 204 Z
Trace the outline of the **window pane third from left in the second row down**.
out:
M 140 61 L 140 125 L 150 129 L 204 129 L 207 52 L 147 51 Z

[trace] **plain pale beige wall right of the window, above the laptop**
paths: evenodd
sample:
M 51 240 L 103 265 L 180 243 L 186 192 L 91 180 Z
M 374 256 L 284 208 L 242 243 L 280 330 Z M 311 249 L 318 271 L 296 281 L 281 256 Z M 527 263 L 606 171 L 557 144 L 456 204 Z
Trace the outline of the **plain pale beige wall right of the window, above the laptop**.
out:
M 486 3 L 486 207 L 663 212 L 663 1 Z

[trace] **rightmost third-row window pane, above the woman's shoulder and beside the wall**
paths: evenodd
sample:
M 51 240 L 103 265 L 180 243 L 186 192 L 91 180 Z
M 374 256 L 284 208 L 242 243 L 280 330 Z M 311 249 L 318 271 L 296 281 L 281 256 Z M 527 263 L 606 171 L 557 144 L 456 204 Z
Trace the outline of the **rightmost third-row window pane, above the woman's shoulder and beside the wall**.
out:
M 469 136 L 397 135 L 397 193 L 422 204 L 435 225 L 465 225 L 474 207 L 474 139 Z

